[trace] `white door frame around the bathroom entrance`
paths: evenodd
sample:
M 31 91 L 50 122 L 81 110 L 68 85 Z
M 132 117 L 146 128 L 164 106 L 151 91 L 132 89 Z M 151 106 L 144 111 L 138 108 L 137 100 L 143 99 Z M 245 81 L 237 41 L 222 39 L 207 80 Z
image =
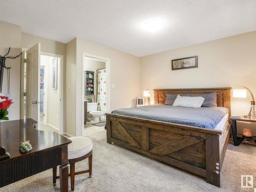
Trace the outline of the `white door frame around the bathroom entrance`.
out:
M 84 63 L 85 62 L 85 57 L 89 58 L 89 59 L 92 59 L 92 60 L 98 60 L 98 61 L 102 61 L 102 62 L 105 62 L 106 63 L 106 98 L 107 98 L 107 102 L 106 102 L 106 112 L 107 113 L 110 113 L 110 58 L 105 58 L 105 57 L 101 57 L 101 56 L 98 56 L 98 55 L 93 55 L 93 54 L 90 54 L 90 53 L 86 53 L 86 52 L 82 52 L 82 70 L 81 70 L 81 95 L 78 95 L 78 100 L 80 100 L 80 106 L 82 106 L 82 113 L 80 113 L 81 115 L 79 115 L 79 117 L 77 118 L 78 119 L 78 126 L 77 129 L 79 130 L 76 130 L 76 133 L 80 133 L 81 136 L 83 135 L 83 128 L 84 128 L 84 86 L 85 86 L 85 82 L 84 82 L 84 70 L 85 70 L 85 67 L 86 67 L 86 64 Z M 79 113 L 77 113 L 78 115 Z

